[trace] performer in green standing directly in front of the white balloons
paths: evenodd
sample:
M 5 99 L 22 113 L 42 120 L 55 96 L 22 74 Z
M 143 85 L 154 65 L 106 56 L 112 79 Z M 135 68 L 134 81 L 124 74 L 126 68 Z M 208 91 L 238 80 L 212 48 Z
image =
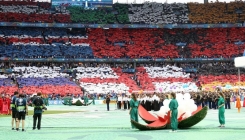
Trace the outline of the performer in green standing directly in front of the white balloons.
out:
M 169 108 L 170 108 L 170 114 L 171 114 L 171 128 L 172 130 L 170 132 L 177 132 L 178 128 L 178 102 L 176 100 L 176 94 L 171 93 L 172 100 L 169 103 Z

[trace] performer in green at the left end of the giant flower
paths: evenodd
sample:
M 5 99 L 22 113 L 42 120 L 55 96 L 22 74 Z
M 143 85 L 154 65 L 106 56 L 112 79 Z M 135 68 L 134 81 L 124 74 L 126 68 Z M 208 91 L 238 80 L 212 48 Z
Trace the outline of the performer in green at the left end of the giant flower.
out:
M 135 93 L 131 94 L 132 99 L 130 100 L 130 110 L 129 110 L 129 115 L 130 119 L 134 120 L 136 122 L 139 122 L 138 120 L 138 106 L 139 106 L 139 101 L 137 101 Z M 131 124 L 132 128 L 135 128 L 133 124 Z

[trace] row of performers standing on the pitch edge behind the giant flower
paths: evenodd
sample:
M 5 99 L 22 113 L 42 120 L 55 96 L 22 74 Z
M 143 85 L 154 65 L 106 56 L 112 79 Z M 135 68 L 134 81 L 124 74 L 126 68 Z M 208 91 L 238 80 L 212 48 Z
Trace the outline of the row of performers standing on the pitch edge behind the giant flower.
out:
M 163 101 L 165 99 L 170 99 L 171 93 L 153 93 L 153 94 L 138 94 L 137 100 L 147 111 L 159 111 L 161 106 L 163 106 Z M 184 94 L 182 92 L 182 94 Z M 222 92 L 224 95 L 225 109 L 231 109 L 231 102 L 236 102 L 236 108 L 241 108 L 242 105 L 240 101 L 243 100 L 243 107 L 245 107 L 245 100 L 241 99 L 244 96 L 232 92 Z M 218 109 L 218 101 L 220 98 L 217 92 L 191 92 L 191 99 L 194 100 L 197 106 L 208 106 L 209 109 Z M 127 109 L 129 108 L 130 96 L 118 95 L 117 99 L 117 109 Z M 239 97 L 239 99 L 238 99 Z M 239 101 L 238 101 L 239 100 Z M 123 107 L 122 107 L 123 106 Z

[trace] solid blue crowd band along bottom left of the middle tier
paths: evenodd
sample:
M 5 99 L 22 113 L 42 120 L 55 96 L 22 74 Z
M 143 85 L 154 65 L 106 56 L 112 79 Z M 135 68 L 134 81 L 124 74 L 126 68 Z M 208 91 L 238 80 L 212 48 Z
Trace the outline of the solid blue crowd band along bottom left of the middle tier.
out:
M 0 46 L 0 56 L 11 58 L 94 58 L 89 46 L 49 44 Z

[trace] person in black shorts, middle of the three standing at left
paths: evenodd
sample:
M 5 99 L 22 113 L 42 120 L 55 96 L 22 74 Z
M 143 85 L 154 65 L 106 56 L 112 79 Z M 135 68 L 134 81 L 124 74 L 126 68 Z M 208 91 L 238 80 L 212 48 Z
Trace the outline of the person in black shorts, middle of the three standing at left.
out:
M 19 98 L 15 101 L 15 106 L 17 110 L 18 121 L 16 123 L 16 131 L 19 131 L 20 121 L 22 120 L 22 131 L 25 131 L 25 117 L 28 115 L 27 100 L 24 98 L 23 94 L 19 95 Z

